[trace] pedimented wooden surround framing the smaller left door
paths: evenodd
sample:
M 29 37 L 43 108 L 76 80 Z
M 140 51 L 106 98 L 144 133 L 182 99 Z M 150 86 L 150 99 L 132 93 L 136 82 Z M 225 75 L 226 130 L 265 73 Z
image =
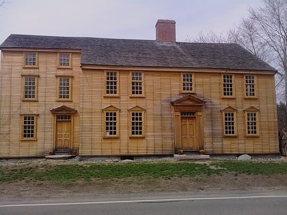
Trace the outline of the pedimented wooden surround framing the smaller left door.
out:
M 56 149 L 56 143 L 57 143 L 57 126 L 59 126 L 57 123 L 62 123 L 64 121 L 66 121 L 67 123 L 70 123 L 70 128 L 69 128 L 69 132 L 70 132 L 70 142 L 69 142 L 69 147 L 68 149 L 70 149 L 70 151 L 73 150 L 73 137 L 74 137 L 74 114 L 77 113 L 77 110 L 72 109 L 68 106 L 62 105 L 59 106 L 55 109 L 51 109 L 51 113 L 53 113 L 53 117 L 54 117 L 54 123 L 53 123 L 53 149 Z M 58 119 L 59 116 L 63 116 L 64 119 Z

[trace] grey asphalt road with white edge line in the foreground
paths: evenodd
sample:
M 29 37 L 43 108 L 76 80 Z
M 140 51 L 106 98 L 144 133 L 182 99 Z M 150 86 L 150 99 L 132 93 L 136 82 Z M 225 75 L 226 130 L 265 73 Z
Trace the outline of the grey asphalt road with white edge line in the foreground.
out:
M 3 199 L 0 214 L 287 214 L 287 192 Z

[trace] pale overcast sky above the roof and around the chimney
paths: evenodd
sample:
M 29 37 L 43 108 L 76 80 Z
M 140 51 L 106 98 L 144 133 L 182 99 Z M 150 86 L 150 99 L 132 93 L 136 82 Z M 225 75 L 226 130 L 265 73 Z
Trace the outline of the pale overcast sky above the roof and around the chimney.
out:
M 0 0 L 1 1 L 1 0 Z M 0 44 L 11 33 L 155 40 L 156 20 L 176 20 L 176 40 L 226 32 L 261 0 L 5 0 Z

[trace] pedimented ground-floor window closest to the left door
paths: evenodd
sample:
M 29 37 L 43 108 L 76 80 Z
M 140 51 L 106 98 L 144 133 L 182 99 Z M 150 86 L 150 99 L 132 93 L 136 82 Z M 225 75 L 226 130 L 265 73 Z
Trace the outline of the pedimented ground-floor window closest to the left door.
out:
M 119 137 L 118 133 L 118 119 L 120 110 L 115 106 L 108 106 L 103 109 L 104 112 L 104 137 L 105 138 L 116 138 Z

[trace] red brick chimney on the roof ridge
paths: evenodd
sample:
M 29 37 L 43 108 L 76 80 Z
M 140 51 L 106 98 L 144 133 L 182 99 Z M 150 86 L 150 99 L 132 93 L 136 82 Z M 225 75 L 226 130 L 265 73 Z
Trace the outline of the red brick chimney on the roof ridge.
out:
M 156 41 L 176 42 L 176 21 L 166 19 L 157 20 Z

